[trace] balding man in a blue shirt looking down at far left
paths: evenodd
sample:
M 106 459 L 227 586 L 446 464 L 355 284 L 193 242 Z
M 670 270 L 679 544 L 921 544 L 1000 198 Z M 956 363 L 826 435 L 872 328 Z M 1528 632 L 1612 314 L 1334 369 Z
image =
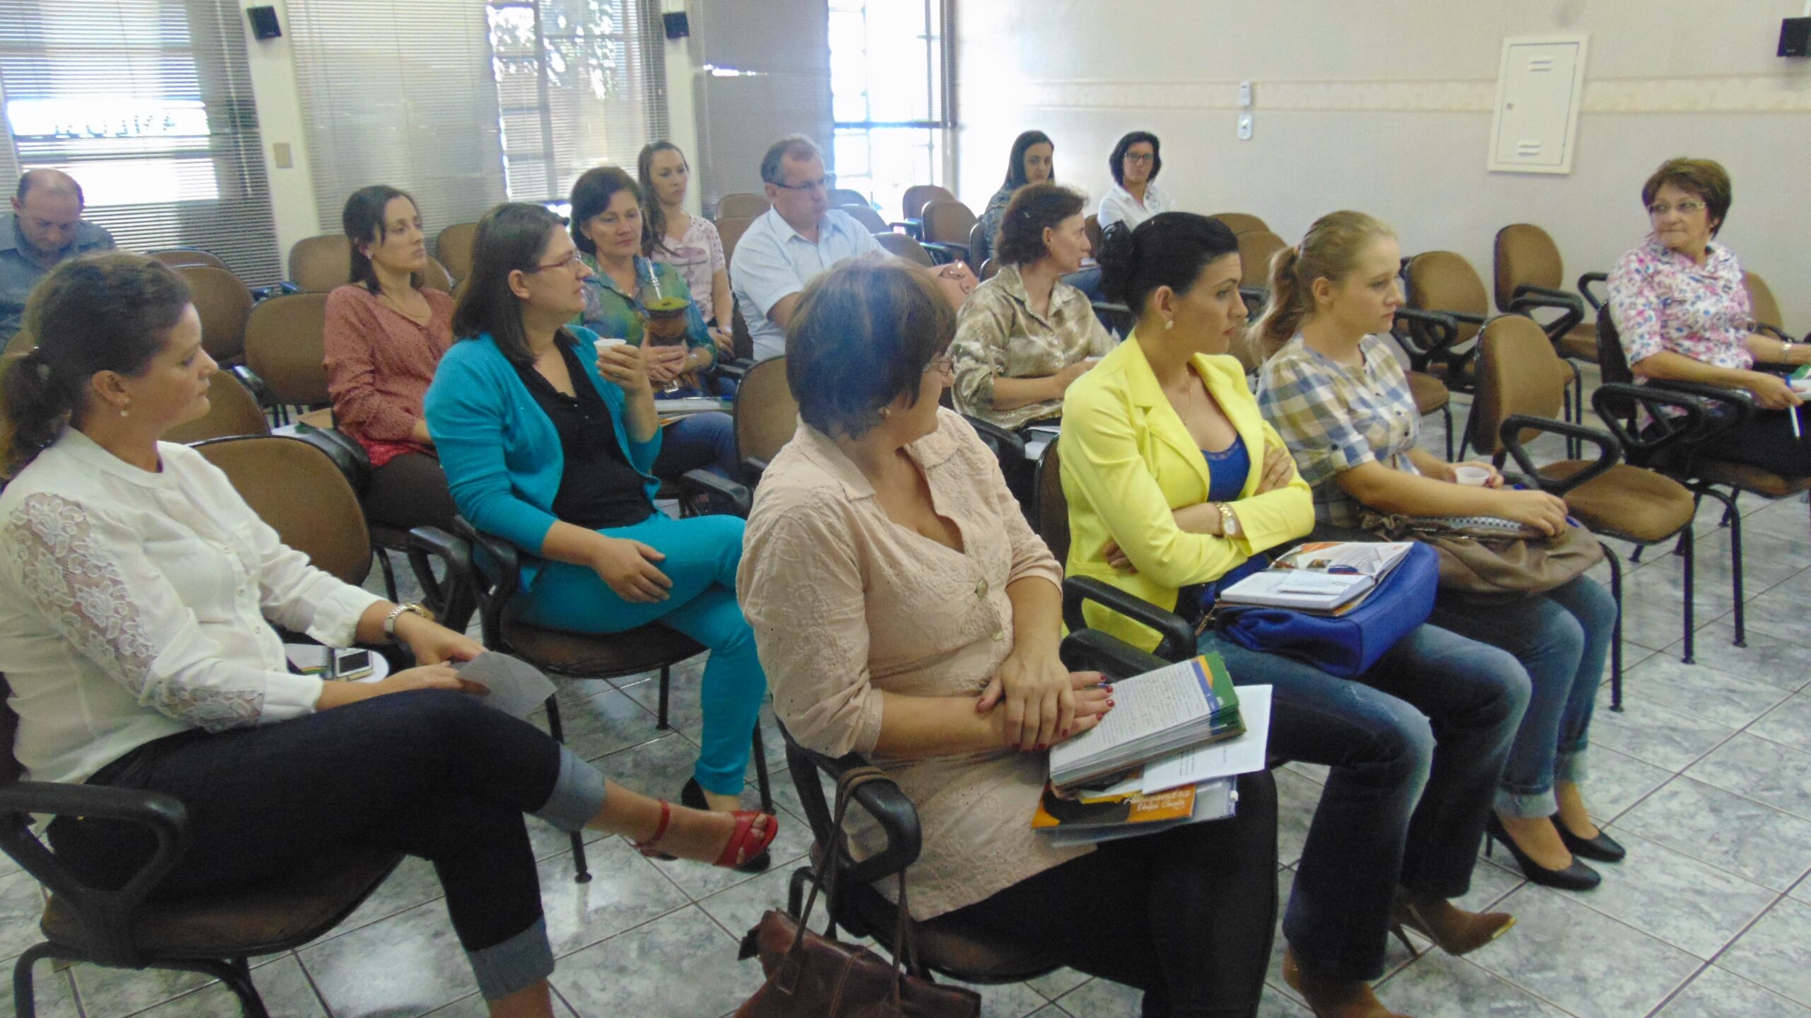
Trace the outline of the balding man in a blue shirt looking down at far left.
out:
M 0 216 L 0 342 L 20 328 L 25 297 L 56 263 L 114 250 L 112 234 L 81 221 L 81 185 L 60 170 L 18 178 L 13 212 Z

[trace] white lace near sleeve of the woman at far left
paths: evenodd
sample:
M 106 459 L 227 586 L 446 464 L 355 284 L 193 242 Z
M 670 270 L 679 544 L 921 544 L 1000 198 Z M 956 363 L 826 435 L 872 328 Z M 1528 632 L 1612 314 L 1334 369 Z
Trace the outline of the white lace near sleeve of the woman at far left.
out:
M 313 710 L 321 679 L 228 661 L 129 527 L 47 493 L 0 522 L 16 589 L 141 706 L 208 732 Z

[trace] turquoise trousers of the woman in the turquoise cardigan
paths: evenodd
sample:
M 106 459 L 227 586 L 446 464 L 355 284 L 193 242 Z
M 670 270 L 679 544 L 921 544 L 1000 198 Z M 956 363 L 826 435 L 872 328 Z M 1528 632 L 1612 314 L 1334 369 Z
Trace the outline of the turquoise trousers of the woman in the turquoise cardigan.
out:
M 735 795 L 743 790 L 768 674 L 755 656 L 755 634 L 735 603 L 735 569 L 743 562 L 743 520 L 694 516 L 674 520 L 654 513 L 630 527 L 598 531 L 637 540 L 666 554 L 657 562 L 672 580 L 665 601 L 625 601 L 601 576 L 583 565 L 547 562 L 522 594 L 522 618 L 570 632 L 625 632 L 657 621 L 710 648 L 701 699 L 704 748 L 692 775 L 704 792 Z

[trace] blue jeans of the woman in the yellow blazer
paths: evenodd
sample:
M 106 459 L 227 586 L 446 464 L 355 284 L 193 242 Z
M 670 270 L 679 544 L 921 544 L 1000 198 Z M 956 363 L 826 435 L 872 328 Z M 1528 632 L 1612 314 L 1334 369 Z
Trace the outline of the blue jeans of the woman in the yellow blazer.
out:
M 1275 687 L 1270 755 L 1327 764 L 1282 935 L 1302 967 L 1338 980 L 1384 971 L 1396 888 L 1456 898 L 1528 677 L 1509 654 L 1433 625 L 1358 681 L 1208 632 L 1237 685 Z

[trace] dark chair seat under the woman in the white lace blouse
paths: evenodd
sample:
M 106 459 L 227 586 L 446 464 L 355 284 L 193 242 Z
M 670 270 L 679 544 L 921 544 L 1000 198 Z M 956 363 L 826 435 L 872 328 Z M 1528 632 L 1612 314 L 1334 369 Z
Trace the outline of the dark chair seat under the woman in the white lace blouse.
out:
M 319 875 L 219 898 L 152 900 L 132 933 L 150 958 L 243 958 L 290 951 L 340 924 L 402 862 L 395 851 L 346 851 Z M 81 918 L 62 897 L 43 908 L 43 935 L 85 949 Z

